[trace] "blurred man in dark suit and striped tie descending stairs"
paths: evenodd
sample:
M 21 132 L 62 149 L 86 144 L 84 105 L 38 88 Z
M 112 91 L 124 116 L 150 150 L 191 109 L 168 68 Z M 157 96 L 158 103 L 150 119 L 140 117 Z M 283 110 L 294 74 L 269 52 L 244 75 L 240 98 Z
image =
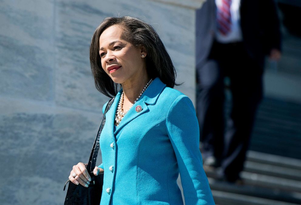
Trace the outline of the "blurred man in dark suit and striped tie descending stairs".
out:
M 240 179 L 255 112 L 262 99 L 265 56 L 281 56 L 273 0 L 207 0 L 196 14 L 197 114 L 204 165 Z M 224 80 L 232 108 L 224 121 Z M 226 122 L 226 123 L 225 123 Z

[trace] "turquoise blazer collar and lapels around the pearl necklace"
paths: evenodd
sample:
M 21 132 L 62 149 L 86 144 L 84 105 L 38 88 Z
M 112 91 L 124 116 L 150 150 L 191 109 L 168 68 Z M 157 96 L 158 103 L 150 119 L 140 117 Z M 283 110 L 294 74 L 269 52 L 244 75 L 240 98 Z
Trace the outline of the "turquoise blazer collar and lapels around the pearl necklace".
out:
M 123 128 L 124 125 L 127 125 L 133 119 L 135 119 L 139 115 L 147 112 L 149 110 L 148 105 L 154 105 L 156 103 L 156 101 L 157 101 L 160 93 L 164 89 L 164 87 L 166 87 L 166 85 L 164 83 L 162 83 L 162 81 L 158 77 L 155 78 L 153 80 L 153 82 L 150 84 L 150 86 L 145 90 L 145 92 L 139 98 L 139 100 L 136 103 L 134 103 L 133 107 L 130 108 L 130 110 L 127 112 L 127 114 L 123 117 L 123 119 L 117 126 L 114 134 L 116 135 L 117 132 L 119 132 L 119 130 L 121 128 Z M 107 112 L 107 119 L 108 119 L 108 123 L 110 124 L 109 125 L 109 128 L 110 128 L 109 133 L 112 133 L 112 134 L 113 134 L 113 128 L 114 128 L 115 113 L 116 113 L 116 109 L 117 109 L 117 106 L 118 106 L 118 103 L 120 100 L 121 93 L 122 93 L 122 88 L 117 93 L 115 100 L 110 108 L 110 111 Z M 141 106 L 142 110 L 140 112 L 137 112 L 136 107 L 139 105 Z

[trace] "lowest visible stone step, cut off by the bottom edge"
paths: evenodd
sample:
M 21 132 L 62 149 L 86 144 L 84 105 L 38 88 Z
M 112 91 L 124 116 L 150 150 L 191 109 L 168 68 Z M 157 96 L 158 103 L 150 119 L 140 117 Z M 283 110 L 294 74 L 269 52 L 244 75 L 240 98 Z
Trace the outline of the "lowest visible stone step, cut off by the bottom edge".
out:
M 255 196 L 246 196 L 237 193 L 212 190 L 215 203 L 220 205 L 296 205 L 271 199 L 264 199 Z

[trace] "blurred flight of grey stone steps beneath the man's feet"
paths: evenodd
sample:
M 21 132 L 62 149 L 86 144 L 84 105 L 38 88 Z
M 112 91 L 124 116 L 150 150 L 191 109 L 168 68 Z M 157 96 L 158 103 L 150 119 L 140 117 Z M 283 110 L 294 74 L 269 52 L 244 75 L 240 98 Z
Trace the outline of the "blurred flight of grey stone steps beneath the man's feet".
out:
M 249 151 L 243 185 L 217 180 L 217 169 L 204 167 L 219 205 L 301 204 L 301 160 Z

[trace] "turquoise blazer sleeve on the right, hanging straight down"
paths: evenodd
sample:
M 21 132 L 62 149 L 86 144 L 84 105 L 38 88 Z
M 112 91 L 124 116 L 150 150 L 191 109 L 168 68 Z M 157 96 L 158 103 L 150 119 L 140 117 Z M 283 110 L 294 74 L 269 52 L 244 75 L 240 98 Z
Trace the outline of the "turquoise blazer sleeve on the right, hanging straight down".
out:
M 185 204 L 215 204 L 199 150 L 198 120 L 187 96 L 181 95 L 171 104 L 166 127 L 178 162 Z

